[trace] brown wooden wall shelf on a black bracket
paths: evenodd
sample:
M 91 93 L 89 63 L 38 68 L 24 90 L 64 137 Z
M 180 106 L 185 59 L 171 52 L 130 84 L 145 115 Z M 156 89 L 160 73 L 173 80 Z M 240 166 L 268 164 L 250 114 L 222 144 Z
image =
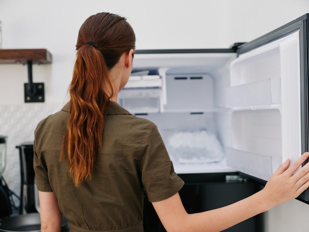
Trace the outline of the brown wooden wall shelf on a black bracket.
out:
M 50 64 L 52 55 L 46 49 L 0 49 L 0 64 Z

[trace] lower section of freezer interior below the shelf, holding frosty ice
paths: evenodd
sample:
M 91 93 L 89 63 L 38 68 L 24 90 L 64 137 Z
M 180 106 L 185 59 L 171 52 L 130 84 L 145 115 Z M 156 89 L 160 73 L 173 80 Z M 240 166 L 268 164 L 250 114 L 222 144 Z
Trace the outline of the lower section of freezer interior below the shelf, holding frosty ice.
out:
M 141 117 L 157 125 L 177 173 L 232 170 L 224 162 L 214 113 L 160 113 Z

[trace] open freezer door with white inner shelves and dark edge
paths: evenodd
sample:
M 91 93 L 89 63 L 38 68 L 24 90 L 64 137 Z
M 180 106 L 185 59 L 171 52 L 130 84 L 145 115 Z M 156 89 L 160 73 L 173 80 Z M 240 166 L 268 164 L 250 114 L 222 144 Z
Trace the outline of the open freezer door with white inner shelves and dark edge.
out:
M 269 180 L 308 151 L 308 14 L 239 46 L 231 63 L 228 166 Z M 299 199 L 309 201 L 305 191 Z

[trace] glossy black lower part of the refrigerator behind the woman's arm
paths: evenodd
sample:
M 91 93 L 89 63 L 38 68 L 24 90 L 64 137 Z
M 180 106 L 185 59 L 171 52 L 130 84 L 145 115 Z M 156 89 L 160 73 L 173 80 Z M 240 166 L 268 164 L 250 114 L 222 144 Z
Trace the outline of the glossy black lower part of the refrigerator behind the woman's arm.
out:
M 185 186 L 179 192 L 188 213 L 197 213 L 232 204 L 250 196 L 263 187 L 256 182 L 227 182 L 226 176 L 237 173 L 179 174 Z M 166 232 L 153 205 L 145 198 L 144 231 Z M 241 222 L 224 232 L 264 232 L 263 214 Z

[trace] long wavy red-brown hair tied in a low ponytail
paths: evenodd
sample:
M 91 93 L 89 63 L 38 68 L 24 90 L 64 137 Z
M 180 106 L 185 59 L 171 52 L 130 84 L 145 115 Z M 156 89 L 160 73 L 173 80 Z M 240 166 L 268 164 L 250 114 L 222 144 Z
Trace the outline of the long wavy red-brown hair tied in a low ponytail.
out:
M 135 48 L 135 34 L 126 19 L 111 13 L 90 16 L 81 25 L 77 58 L 69 87 L 70 117 L 60 160 L 67 158 L 76 186 L 91 179 L 102 146 L 104 118 L 116 93 L 109 71 L 124 52 Z

